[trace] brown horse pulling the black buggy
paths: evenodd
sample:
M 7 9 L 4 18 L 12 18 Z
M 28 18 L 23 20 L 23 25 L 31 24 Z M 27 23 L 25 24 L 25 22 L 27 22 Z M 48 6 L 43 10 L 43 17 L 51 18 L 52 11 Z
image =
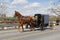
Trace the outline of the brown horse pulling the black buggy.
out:
M 33 18 L 30 16 L 22 16 L 19 12 L 15 11 L 14 17 L 18 18 L 18 30 L 20 31 L 20 27 L 22 27 L 22 31 L 24 31 L 23 25 L 28 23 L 30 25 L 30 29 L 33 30 L 34 26 L 31 25 Z

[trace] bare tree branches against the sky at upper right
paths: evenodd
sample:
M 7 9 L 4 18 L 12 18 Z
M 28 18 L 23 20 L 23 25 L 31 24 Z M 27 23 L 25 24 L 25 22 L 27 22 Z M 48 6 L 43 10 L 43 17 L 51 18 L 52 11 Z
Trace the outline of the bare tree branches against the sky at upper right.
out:
M 60 3 L 60 0 L 58 0 L 57 1 L 58 3 Z M 50 12 L 50 13 L 54 13 L 54 14 L 56 14 L 57 16 L 60 16 L 60 6 L 58 6 L 56 3 L 57 2 L 55 2 L 55 3 L 51 3 L 51 8 L 50 9 L 48 9 L 48 11 Z

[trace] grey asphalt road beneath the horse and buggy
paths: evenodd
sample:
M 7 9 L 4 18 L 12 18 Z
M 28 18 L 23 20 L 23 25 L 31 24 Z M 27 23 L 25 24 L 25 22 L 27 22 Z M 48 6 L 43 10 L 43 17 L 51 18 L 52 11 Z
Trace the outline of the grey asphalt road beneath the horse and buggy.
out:
M 45 31 L 26 31 L 18 32 L 17 30 L 0 31 L 0 40 L 60 40 L 60 27 Z

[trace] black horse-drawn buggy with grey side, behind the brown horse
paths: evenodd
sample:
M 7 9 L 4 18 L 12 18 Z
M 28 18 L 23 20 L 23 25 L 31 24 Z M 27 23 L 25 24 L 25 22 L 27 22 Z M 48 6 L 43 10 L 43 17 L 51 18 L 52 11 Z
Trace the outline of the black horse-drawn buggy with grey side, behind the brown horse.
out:
M 44 27 L 47 27 L 49 24 L 49 15 L 35 14 L 34 19 L 31 24 L 33 24 L 35 28 L 44 30 Z M 26 25 L 26 28 L 28 28 L 28 25 Z

